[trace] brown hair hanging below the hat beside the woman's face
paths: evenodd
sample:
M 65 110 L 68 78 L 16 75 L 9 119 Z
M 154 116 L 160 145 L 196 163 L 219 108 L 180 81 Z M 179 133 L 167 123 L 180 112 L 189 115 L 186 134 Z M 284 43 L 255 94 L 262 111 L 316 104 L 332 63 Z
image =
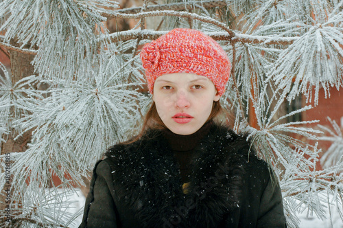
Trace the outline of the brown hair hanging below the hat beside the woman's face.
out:
M 220 102 L 219 101 L 213 102 L 212 111 L 209 115 L 209 118 L 206 120 L 206 122 L 209 122 L 210 120 L 212 120 L 218 114 L 222 113 L 222 111 L 223 110 L 222 110 L 222 106 L 220 105 Z M 161 117 L 157 113 L 156 104 L 154 101 L 152 101 L 150 109 L 145 114 L 145 119 L 144 119 L 143 126 L 141 128 L 141 132 L 139 133 L 139 135 L 137 135 L 136 137 L 133 137 L 129 141 L 123 142 L 123 144 L 130 144 L 134 141 L 138 141 L 148 130 L 151 130 L 151 129 L 162 130 L 165 128 L 167 128 L 167 126 L 163 124 Z

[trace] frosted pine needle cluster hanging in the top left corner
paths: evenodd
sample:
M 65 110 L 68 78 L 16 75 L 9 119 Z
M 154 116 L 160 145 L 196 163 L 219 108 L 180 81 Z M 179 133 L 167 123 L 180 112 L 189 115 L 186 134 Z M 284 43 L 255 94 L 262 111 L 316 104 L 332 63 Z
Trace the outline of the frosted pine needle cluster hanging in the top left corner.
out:
M 7 15 L 0 30 L 5 30 L 5 40 L 16 39 L 25 45 L 39 47 L 34 58 L 36 71 L 47 78 L 73 78 L 86 75 L 96 62 L 96 57 L 109 45 L 99 45 L 99 34 L 106 34 L 101 13 L 108 12 L 101 1 L 2 1 L 0 16 Z M 117 8 L 117 3 L 104 1 Z M 103 47 L 102 47 L 103 46 Z M 104 47 L 105 46 L 105 47 Z M 54 65 L 58 66 L 52 67 Z

